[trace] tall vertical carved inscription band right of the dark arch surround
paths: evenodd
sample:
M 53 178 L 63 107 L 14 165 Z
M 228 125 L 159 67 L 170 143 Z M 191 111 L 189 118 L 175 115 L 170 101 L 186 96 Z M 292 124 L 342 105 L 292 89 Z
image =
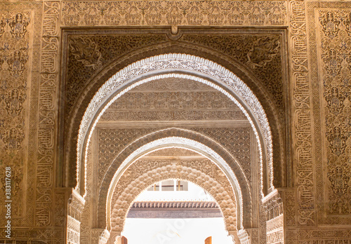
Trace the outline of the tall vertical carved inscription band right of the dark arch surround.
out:
M 293 97 L 293 148 L 296 159 L 298 224 L 314 226 L 314 163 L 312 140 L 311 84 L 307 52 L 307 27 L 304 0 L 289 1 L 291 86 Z

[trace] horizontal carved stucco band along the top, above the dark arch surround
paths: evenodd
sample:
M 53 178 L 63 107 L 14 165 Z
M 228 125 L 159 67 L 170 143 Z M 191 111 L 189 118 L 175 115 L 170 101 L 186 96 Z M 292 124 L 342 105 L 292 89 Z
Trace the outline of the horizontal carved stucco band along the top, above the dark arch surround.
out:
M 63 1 L 61 20 L 63 26 L 284 26 L 286 12 L 286 1 Z

